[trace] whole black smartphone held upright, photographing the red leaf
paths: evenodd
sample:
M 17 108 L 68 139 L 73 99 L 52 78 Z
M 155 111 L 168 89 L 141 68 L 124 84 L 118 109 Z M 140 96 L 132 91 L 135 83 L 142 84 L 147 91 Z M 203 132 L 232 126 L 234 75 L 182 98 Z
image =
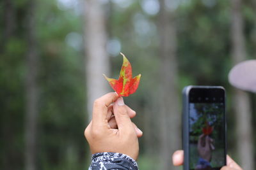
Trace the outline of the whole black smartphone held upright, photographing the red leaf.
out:
M 182 147 L 184 170 L 221 169 L 227 155 L 225 89 L 183 89 Z

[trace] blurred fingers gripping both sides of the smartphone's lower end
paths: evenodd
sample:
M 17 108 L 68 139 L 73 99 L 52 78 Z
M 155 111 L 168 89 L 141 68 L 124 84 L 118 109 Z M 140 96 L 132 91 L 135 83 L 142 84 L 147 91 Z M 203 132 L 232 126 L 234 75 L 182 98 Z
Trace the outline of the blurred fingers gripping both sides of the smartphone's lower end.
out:
M 177 150 L 172 155 L 173 166 L 182 166 L 184 162 L 184 151 Z M 239 165 L 236 164 L 234 160 L 232 160 L 227 155 L 227 166 L 223 166 L 221 170 L 243 170 Z

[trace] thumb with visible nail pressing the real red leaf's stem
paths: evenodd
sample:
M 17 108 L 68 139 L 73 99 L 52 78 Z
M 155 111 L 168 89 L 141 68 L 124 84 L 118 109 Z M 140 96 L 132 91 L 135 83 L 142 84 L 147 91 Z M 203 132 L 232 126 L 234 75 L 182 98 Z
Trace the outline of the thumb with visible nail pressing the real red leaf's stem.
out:
M 124 104 L 123 97 L 119 97 L 113 106 L 114 115 L 116 118 L 116 124 L 118 131 L 129 132 L 134 131 L 134 127 L 131 122 L 131 118 L 128 115 L 128 111 Z

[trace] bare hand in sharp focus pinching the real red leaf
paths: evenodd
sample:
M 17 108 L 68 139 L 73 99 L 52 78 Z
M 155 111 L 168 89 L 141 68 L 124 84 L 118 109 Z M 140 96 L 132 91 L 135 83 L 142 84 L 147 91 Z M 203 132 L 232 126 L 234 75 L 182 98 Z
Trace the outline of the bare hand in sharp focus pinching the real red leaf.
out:
M 111 116 L 112 111 L 115 117 Z M 122 97 L 118 98 L 116 93 L 108 93 L 96 99 L 92 121 L 84 131 L 91 152 L 124 153 L 136 160 L 139 153 L 138 137 L 142 136 L 142 132 L 129 116 L 133 117 L 135 113 L 125 106 Z

